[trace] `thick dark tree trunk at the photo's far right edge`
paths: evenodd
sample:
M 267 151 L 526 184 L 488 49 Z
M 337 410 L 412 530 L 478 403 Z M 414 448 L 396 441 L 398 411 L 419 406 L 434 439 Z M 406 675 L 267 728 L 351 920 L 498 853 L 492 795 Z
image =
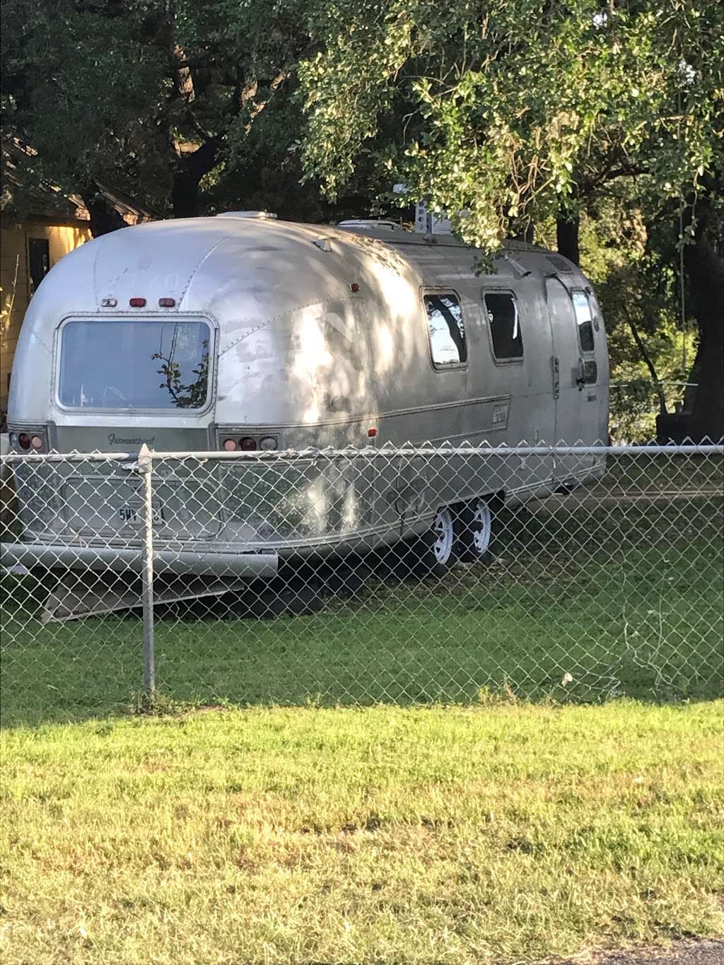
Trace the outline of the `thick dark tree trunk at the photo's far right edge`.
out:
M 706 224 L 697 227 L 693 244 L 683 250 L 689 298 L 699 327 L 699 387 L 691 412 L 694 441 L 724 436 L 724 260 Z

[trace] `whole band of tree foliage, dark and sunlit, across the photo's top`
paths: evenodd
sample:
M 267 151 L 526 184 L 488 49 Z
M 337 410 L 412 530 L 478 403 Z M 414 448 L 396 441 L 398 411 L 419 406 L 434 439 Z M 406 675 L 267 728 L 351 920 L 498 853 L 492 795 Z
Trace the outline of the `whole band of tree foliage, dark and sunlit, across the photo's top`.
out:
M 183 178 L 199 211 L 264 205 L 271 181 L 283 201 L 302 173 L 310 197 L 317 179 L 329 198 L 404 180 L 400 204 L 466 208 L 463 236 L 497 245 L 620 177 L 643 179 L 650 212 L 703 190 L 721 164 L 718 14 L 714 0 L 7 0 L 4 124 L 38 151 L 33 177 L 66 190 L 100 179 L 179 213 Z

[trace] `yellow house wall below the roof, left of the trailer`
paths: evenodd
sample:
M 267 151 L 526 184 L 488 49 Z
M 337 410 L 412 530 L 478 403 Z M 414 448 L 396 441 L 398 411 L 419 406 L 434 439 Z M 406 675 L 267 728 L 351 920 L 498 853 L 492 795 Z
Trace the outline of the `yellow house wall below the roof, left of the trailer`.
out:
M 29 218 L 0 226 L 0 410 L 7 411 L 10 373 L 20 325 L 32 297 L 28 238 L 47 238 L 50 266 L 91 238 L 84 221 L 57 223 Z

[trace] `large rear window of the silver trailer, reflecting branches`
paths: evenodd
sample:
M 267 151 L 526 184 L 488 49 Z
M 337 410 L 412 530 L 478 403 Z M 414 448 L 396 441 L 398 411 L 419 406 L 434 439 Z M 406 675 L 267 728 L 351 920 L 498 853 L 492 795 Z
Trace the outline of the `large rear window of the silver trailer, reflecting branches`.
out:
M 209 394 L 205 321 L 70 321 L 58 396 L 70 408 L 201 409 Z

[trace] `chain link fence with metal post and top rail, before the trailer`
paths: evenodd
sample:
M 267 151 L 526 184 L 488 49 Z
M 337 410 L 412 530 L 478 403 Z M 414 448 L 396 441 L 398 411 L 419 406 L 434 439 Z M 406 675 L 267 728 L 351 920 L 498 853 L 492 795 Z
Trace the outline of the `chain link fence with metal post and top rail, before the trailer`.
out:
M 4 720 L 712 697 L 723 453 L 6 456 Z

